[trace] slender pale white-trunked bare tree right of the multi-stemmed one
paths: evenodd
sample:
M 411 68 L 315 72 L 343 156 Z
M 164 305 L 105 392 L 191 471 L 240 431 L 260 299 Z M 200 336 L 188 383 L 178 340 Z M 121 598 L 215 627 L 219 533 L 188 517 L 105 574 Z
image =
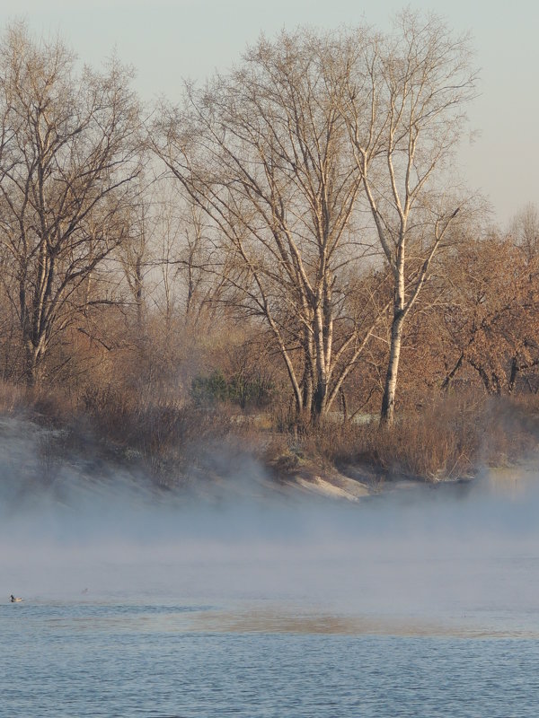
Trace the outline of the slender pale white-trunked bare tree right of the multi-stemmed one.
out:
M 393 34 L 363 41 L 342 114 L 367 207 L 393 273 L 393 322 L 381 420 L 393 423 L 402 328 L 459 204 L 445 174 L 473 98 L 469 39 L 405 11 Z M 451 167 L 449 167 L 451 170 Z

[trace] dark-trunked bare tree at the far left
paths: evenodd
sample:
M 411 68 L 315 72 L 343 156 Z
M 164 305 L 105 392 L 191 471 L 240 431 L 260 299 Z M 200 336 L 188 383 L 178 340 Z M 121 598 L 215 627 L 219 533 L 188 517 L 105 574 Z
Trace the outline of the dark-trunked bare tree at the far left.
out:
M 0 45 L 0 241 L 25 379 L 84 303 L 84 283 L 125 239 L 138 171 L 131 73 L 76 71 L 64 43 L 13 24 Z

